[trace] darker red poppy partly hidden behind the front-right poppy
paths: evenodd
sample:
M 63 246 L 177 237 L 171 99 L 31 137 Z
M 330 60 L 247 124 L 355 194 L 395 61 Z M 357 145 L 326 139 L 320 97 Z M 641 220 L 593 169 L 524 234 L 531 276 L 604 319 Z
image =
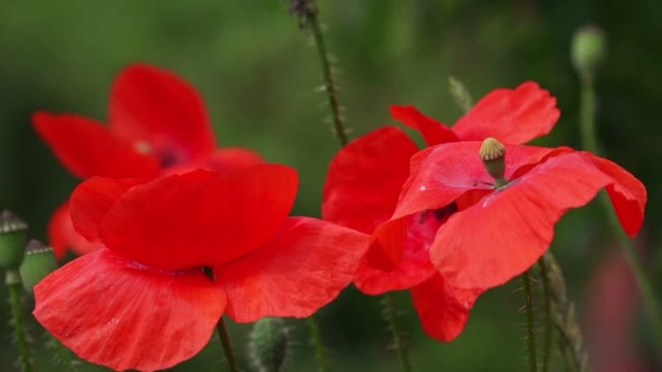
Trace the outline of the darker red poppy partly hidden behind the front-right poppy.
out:
M 414 107 L 392 106 L 391 114 L 417 129 L 428 146 L 495 137 L 522 144 L 551 131 L 559 119 L 556 99 L 534 82 L 516 89 L 495 89 L 483 97 L 453 128 L 421 114 Z M 400 228 L 376 228 L 395 211 L 409 176 L 409 160 L 418 147 L 404 131 L 385 126 L 355 139 L 332 160 L 323 193 L 324 220 L 372 234 L 372 247 L 354 284 L 369 295 L 410 289 L 424 330 L 438 340 L 455 338 L 468 320 L 481 287 L 449 284 L 430 262 L 429 247 L 441 225 L 457 210 L 448 203 L 400 220 Z M 390 233 L 393 232 L 392 236 Z M 370 257 L 382 240 L 394 240 L 402 260 L 379 268 Z

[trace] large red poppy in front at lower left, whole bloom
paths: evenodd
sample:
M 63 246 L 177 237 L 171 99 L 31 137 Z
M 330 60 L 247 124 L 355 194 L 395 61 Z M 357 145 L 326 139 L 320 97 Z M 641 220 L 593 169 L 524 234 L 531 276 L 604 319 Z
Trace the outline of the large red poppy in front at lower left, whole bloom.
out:
M 223 313 L 309 317 L 352 282 L 368 236 L 289 218 L 297 183 L 275 164 L 146 183 L 89 178 L 71 215 L 105 248 L 35 287 L 36 319 L 86 360 L 149 371 L 197 354 Z

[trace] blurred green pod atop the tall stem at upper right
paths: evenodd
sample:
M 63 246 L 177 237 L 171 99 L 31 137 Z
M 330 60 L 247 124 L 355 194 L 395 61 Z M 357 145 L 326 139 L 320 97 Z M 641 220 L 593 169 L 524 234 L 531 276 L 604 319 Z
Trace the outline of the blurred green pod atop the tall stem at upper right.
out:
M 584 26 L 573 37 L 571 59 L 583 79 L 592 79 L 606 54 L 606 37 L 596 26 Z

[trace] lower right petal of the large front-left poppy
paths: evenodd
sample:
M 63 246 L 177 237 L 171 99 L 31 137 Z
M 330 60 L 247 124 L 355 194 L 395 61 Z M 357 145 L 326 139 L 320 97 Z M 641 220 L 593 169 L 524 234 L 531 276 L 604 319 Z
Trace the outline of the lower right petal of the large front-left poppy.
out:
M 309 317 L 354 277 L 368 236 L 330 222 L 290 218 L 266 245 L 217 269 L 236 322 Z

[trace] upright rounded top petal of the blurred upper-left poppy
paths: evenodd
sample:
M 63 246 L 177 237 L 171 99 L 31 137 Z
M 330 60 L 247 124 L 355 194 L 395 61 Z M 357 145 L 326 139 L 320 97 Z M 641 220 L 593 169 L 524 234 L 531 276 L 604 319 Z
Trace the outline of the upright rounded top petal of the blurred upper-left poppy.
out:
M 194 87 L 166 70 L 146 64 L 124 69 L 110 98 L 113 133 L 147 141 L 175 163 L 209 156 L 216 140 L 205 102 Z

